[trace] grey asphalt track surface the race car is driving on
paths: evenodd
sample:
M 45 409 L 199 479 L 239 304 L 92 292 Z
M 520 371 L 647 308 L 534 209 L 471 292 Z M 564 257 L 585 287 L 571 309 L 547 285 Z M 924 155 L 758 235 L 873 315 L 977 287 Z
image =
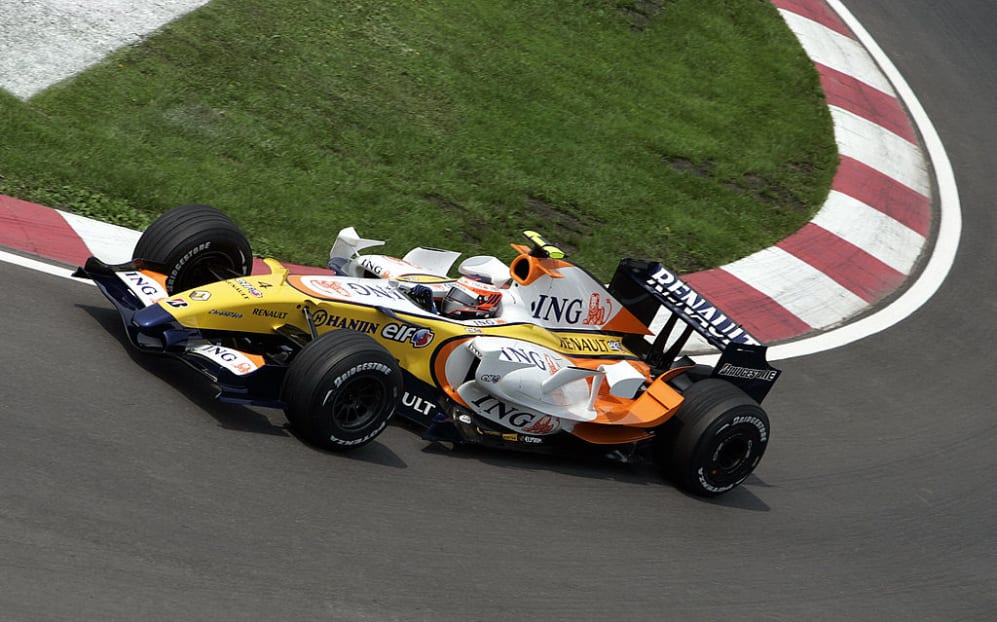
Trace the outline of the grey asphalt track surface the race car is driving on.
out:
M 398 426 L 323 453 L 133 354 L 95 288 L 0 264 L 0 618 L 994 619 L 997 6 L 848 7 L 935 122 L 962 243 L 898 326 L 780 363 L 744 486 Z

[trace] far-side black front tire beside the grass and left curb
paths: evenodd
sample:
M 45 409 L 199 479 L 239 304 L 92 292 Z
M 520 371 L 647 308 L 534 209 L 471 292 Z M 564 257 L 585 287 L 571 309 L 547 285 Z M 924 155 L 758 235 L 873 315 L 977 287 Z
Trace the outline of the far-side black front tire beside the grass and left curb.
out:
M 210 205 L 181 205 L 149 225 L 135 245 L 166 275 L 166 291 L 182 292 L 253 269 L 249 241 L 232 220 Z

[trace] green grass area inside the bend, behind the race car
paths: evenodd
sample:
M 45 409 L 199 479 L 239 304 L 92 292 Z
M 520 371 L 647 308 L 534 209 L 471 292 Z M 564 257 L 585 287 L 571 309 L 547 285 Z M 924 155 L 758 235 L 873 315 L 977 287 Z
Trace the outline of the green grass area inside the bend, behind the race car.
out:
M 785 237 L 837 162 L 765 0 L 215 0 L 22 103 L 0 192 L 141 227 L 182 203 L 321 265 L 341 227 L 510 259 L 535 228 L 608 276 Z

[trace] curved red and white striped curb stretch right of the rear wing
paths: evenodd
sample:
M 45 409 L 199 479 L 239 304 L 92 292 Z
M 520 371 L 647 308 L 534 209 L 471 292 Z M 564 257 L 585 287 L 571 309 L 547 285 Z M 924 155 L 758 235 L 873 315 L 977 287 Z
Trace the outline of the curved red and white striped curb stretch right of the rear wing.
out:
M 686 280 L 762 341 L 834 328 L 900 288 L 927 247 L 931 176 L 877 61 L 823 1 L 772 0 L 820 75 L 840 164 L 816 217 Z

